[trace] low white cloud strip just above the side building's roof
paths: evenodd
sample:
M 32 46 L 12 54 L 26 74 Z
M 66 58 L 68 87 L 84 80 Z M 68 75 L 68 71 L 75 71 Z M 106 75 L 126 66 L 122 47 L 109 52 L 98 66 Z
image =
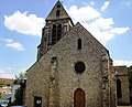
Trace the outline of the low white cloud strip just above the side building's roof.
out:
M 120 65 L 131 66 L 132 65 L 132 61 L 114 60 L 113 61 L 113 65 L 114 66 L 120 66 Z

